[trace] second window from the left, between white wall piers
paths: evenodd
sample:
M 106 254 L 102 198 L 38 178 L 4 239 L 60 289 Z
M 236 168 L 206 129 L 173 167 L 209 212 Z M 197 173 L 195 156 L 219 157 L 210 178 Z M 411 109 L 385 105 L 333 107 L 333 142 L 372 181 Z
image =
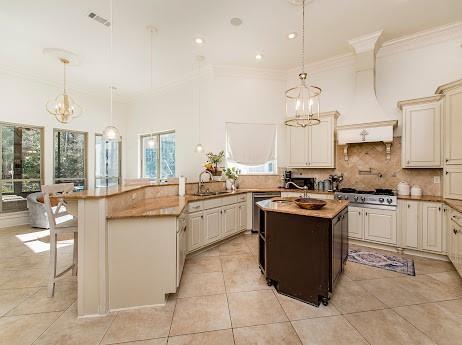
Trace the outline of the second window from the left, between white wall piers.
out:
M 76 191 L 87 185 L 87 134 L 84 132 L 54 130 L 54 181 L 71 182 Z

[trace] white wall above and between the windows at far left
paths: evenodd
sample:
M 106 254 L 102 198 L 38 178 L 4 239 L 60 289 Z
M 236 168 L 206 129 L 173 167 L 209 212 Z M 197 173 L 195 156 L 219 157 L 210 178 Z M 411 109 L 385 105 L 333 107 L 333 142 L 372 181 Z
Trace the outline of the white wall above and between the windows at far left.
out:
M 60 87 L 0 72 L 0 90 L 2 90 L 0 122 L 44 127 L 44 171 L 42 174 L 47 184 L 53 182 L 53 129 L 63 128 L 88 133 L 88 183 L 90 187 L 93 187 L 95 133 L 101 133 L 109 123 L 109 96 L 92 96 L 70 90 L 69 93 L 82 106 L 83 112 L 80 118 L 63 125 L 45 110 L 46 103 L 62 92 Z M 128 114 L 128 107 L 117 103 L 114 109 L 114 123 L 121 128 L 122 135 L 125 137 L 125 115 Z

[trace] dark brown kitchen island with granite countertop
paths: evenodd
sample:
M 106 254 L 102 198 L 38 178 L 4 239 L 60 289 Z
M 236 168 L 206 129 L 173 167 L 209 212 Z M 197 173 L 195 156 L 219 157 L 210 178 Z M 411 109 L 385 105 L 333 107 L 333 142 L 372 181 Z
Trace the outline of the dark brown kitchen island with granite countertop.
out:
M 290 198 L 257 203 L 259 265 L 268 285 L 315 306 L 328 304 L 348 257 L 348 202 L 326 202 L 320 210 Z

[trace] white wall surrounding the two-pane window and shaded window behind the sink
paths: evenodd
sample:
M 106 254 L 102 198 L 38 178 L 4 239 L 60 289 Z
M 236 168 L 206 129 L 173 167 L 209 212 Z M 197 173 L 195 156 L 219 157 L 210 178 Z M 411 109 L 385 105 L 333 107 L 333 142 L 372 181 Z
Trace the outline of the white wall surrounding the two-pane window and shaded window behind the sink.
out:
M 199 142 L 198 79 L 143 97 L 131 109 L 132 120 L 127 134 L 127 177 L 135 178 L 139 173 L 139 135 L 175 129 L 177 174 L 197 181 L 206 161 L 205 153 L 225 148 L 226 122 L 282 123 L 284 104 L 281 95 L 285 83 L 283 74 L 255 77 L 236 75 L 233 71 L 224 73 L 221 68 L 220 71 L 214 69 L 204 73 L 200 78 L 200 142 L 204 146 L 203 154 L 194 152 Z M 258 140 L 258 133 L 255 140 Z

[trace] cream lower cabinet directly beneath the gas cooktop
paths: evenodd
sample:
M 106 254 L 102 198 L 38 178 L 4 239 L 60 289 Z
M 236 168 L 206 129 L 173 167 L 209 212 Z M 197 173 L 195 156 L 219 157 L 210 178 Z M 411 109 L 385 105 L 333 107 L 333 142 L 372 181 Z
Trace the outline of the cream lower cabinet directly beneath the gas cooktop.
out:
M 348 237 L 396 244 L 396 211 L 348 207 Z

